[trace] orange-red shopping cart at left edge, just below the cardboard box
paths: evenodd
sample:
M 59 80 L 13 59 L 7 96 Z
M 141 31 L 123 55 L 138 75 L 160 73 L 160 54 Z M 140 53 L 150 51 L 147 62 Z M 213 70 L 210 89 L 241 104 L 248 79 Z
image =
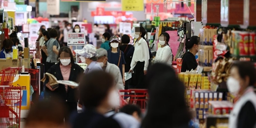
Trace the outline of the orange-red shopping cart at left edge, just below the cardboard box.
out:
M 0 85 L 12 86 L 12 81 L 15 78 L 17 69 L 6 68 L 0 71 Z

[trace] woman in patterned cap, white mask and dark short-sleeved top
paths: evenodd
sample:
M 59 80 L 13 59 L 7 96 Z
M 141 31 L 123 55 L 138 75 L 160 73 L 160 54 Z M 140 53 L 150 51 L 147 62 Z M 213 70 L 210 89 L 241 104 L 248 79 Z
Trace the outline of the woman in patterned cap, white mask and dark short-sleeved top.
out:
M 120 40 L 117 36 L 112 36 L 110 38 L 108 49 L 108 62 L 111 64 L 116 64 L 122 74 L 123 84 L 125 84 L 125 54 L 119 49 Z

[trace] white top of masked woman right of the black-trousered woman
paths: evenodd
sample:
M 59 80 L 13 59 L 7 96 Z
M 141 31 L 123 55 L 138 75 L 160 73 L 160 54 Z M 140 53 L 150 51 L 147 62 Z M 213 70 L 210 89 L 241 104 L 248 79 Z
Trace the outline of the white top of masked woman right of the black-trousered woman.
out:
M 172 50 L 168 45 L 157 49 L 157 54 L 154 63 L 172 65 Z

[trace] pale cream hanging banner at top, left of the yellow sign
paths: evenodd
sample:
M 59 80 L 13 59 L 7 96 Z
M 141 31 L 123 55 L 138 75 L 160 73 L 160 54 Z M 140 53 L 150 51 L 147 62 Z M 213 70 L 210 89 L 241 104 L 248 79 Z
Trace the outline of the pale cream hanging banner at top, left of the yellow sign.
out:
M 47 0 L 47 13 L 49 15 L 60 15 L 60 0 Z

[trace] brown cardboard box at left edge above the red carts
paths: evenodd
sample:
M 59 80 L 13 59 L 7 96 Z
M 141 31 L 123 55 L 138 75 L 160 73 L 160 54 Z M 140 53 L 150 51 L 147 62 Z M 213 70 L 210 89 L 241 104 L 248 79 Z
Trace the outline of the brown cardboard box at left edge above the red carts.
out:
M 20 67 L 19 59 L 0 59 L 0 70 L 6 69 L 7 67 Z

